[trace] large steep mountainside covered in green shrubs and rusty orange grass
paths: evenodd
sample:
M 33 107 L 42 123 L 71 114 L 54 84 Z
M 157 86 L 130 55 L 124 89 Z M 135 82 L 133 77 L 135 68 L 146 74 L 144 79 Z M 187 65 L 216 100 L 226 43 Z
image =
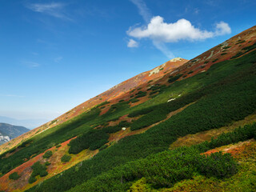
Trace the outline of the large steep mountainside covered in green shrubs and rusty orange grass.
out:
M 4 191 L 254 191 L 256 26 L 0 148 Z

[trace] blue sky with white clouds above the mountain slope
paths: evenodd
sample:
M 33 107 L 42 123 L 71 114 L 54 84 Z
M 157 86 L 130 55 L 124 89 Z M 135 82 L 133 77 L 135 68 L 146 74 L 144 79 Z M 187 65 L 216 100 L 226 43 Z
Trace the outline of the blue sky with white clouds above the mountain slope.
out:
M 1 0 L 0 116 L 57 118 L 255 25 L 254 0 Z

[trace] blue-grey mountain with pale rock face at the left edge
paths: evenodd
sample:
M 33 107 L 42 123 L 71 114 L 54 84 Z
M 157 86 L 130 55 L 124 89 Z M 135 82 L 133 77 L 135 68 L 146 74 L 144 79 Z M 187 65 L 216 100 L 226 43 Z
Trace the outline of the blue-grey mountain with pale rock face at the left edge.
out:
M 25 134 L 29 129 L 24 126 L 13 126 L 0 122 L 0 145 L 10 142 L 10 139 L 17 138 L 21 134 Z

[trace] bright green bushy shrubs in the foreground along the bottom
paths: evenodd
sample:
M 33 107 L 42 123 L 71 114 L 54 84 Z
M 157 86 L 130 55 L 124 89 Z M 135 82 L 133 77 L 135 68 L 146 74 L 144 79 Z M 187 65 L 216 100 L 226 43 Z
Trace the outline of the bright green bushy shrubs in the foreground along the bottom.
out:
M 204 175 L 206 178 L 230 178 L 238 172 L 238 163 L 230 154 L 218 152 L 205 156 L 200 155 L 200 153 L 213 149 L 216 146 L 212 145 L 213 143 L 222 146 L 220 141 L 230 144 L 255 138 L 255 131 L 256 124 L 254 123 L 244 128 L 240 127 L 229 134 L 222 134 L 217 139 L 212 139 L 211 142 L 203 142 L 190 147 L 179 147 L 176 150 L 166 150 L 147 158 L 128 162 L 84 182 L 81 186 L 74 187 L 70 192 L 126 191 L 138 179 L 143 180 L 145 187 L 146 184 L 150 184 L 150 188 L 158 189 L 171 187 L 176 182 L 193 178 L 194 175 L 198 174 Z M 234 137 L 236 138 L 235 141 L 233 140 Z M 99 181 L 103 182 L 104 185 L 98 185 Z

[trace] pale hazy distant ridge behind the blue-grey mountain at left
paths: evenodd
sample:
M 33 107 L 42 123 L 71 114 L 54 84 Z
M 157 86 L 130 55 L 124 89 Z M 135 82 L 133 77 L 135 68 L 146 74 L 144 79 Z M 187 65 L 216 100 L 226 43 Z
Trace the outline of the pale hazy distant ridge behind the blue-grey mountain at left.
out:
M 0 122 L 10 123 L 11 125 L 17 126 L 25 126 L 30 130 L 41 126 L 42 124 L 49 122 L 48 119 L 38 118 L 38 119 L 15 119 L 15 118 L 8 118 L 4 116 L 0 116 Z

